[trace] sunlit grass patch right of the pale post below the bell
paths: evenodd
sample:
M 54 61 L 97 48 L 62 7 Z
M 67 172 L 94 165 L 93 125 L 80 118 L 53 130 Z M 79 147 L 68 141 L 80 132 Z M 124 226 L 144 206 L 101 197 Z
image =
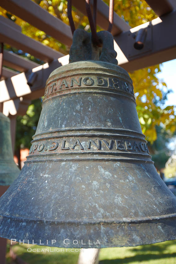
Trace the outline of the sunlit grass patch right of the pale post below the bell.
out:
M 100 264 L 175 264 L 176 240 L 128 248 L 104 248 Z

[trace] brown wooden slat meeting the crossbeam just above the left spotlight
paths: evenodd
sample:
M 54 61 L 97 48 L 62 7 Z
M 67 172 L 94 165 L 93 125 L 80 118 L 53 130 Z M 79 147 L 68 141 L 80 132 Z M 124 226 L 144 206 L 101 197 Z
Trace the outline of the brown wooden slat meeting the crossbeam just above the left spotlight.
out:
M 3 65 L 15 69 L 16 71 L 27 71 L 39 66 L 38 63 L 7 50 L 3 52 Z

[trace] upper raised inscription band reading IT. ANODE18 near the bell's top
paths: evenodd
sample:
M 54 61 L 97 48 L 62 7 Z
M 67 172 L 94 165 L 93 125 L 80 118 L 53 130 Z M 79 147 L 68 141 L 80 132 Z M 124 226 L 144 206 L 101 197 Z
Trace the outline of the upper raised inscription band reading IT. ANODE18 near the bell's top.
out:
M 105 87 L 109 89 L 119 89 L 134 95 L 133 86 L 124 80 L 120 80 L 114 77 L 101 77 L 101 76 L 84 76 L 76 78 L 59 79 L 54 83 L 47 85 L 45 89 L 45 96 L 53 92 L 64 90 L 67 88 L 79 88 L 79 87 Z

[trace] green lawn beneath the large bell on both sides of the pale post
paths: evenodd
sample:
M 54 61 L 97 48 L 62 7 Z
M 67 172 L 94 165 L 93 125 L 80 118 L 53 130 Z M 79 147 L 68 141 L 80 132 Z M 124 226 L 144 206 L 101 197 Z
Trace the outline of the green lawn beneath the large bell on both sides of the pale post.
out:
M 7 244 L 7 264 L 11 263 L 9 257 L 10 242 Z M 28 264 L 76 264 L 79 252 L 71 252 L 71 249 L 60 249 L 60 252 L 28 252 L 27 248 L 40 250 L 43 248 L 58 250 L 38 245 L 13 245 L 13 252 Z M 70 251 L 70 252 L 68 252 Z M 100 251 L 100 264 L 175 264 L 176 240 L 157 244 L 128 248 L 103 248 Z

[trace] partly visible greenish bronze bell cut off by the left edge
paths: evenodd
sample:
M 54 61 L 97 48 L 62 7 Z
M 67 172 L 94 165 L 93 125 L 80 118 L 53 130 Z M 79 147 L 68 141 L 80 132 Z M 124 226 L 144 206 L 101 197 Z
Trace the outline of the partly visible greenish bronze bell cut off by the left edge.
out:
M 10 119 L 0 112 L 0 186 L 10 185 L 19 173 L 13 160 Z

